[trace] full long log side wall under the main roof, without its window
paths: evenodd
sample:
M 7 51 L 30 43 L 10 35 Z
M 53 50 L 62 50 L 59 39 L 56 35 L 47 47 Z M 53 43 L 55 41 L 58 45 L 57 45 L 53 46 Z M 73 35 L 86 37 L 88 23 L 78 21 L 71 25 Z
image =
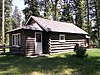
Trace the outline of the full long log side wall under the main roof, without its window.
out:
M 64 33 L 51 33 L 50 48 L 52 51 L 73 49 L 76 43 L 82 46 L 86 45 L 85 35 L 68 33 L 65 34 L 65 42 L 60 42 L 60 34 Z

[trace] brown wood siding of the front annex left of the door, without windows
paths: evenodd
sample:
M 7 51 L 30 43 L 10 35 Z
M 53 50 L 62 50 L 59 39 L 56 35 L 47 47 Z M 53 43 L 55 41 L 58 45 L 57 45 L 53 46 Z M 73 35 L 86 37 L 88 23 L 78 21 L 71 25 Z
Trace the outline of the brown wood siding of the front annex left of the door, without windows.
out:
M 21 30 L 19 32 L 10 33 L 10 46 L 12 46 L 12 34 L 20 33 L 21 46 L 20 48 L 12 47 L 10 52 L 12 54 L 34 55 L 35 54 L 35 38 L 34 31 Z

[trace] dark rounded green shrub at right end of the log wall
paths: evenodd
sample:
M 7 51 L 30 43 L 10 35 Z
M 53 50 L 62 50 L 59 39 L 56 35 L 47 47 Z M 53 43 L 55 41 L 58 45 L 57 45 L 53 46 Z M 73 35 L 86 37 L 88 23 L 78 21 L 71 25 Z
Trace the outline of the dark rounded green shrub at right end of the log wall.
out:
M 76 52 L 76 55 L 79 57 L 83 57 L 86 55 L 86 48 L 82 46 L 78 46 L 74 48 L 74 52 Z

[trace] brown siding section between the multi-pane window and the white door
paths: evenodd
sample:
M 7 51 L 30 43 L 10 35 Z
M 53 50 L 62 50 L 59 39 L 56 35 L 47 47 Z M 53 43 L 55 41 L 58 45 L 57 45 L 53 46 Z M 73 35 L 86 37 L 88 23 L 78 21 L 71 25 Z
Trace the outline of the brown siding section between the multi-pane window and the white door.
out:
M 22 49 L 25 51 L 25 55 L 35 54 L 35 38 L 34 31 L 23 30 L 22 34 Z

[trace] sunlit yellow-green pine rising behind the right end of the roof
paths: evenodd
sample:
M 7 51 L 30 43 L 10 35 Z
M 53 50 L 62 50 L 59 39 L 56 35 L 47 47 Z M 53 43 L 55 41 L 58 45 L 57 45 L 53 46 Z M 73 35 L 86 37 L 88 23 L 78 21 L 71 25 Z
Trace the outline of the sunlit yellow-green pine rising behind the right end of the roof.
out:
M 86 1 L 85 0 L 74 0 L 76 8 L 76 25 L 80 28 L 85 24 L 86 19 Z M 84 29 L 84 28 L 83 28 Z

